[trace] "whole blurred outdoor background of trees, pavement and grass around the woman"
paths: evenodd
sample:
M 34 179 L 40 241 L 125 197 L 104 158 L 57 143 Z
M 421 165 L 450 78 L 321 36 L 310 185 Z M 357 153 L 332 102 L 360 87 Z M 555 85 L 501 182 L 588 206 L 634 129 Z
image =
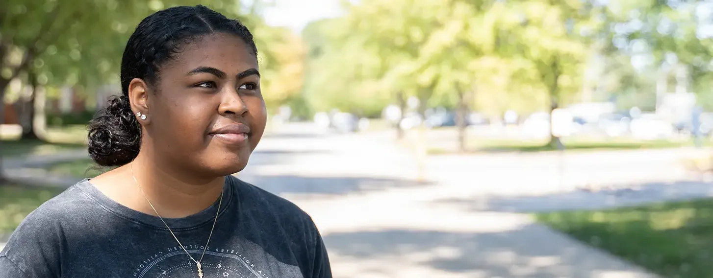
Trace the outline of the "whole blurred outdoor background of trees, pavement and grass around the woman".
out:
M 145 16 L 260 52 L 236 175 L 314 218 L 335 277 L 713 277 L 713 1 L 0 1 L 0 248 L 92 168 Z

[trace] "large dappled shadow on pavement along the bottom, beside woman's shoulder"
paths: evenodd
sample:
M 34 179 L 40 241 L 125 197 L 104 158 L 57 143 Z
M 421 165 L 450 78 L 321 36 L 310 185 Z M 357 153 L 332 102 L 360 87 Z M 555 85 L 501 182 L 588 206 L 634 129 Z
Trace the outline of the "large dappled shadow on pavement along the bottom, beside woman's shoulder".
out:
M 549 230 L 540 225 L 498 232 L 395 229 L 331 233 L 324 241 L 330 256 L 360 267 L 346 273 L 352 267 L 345 265 L 335 272 L 339 277 L 406 277 L 404 269 L 418 269 L 422 277 L 605 277 L 600 275 L 631 270 L 567 237 L 531 248 L 532 241 L 551 240 L 539 237 L 543 232 Z

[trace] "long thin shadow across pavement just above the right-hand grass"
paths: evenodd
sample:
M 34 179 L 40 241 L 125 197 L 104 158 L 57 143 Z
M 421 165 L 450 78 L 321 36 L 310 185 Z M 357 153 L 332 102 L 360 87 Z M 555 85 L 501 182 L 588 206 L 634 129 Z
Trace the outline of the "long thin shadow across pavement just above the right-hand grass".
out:
M 661 201 L 689 200 L 713 196 L 713 184 L 699 181 L 642 183 L 612 186 L 600 191 L 578 189 L 538 196 L 470 196 L 436 200 L 466 210 L 505 213 L 539 213 L 557 210 L 598 210 Z

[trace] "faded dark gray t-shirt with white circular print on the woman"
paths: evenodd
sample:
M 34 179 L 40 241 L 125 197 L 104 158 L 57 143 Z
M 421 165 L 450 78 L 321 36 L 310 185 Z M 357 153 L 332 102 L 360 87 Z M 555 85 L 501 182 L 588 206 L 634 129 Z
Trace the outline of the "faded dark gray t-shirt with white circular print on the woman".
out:
M 332 277 L 312 218 L 284 198 L 229 176 L 218 202 L 186 218 L 165 219 L 205 278 Z M 81 181 L 19 225 L 0 252 L 0 278 L 198 277 L 155 216 L 127 208 Z

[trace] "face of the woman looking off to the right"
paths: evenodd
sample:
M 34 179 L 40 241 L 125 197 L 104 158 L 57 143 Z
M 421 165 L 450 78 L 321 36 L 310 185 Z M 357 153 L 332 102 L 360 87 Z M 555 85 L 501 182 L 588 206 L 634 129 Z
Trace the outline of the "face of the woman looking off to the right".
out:
M 144 141 L 162 164 L 205 176 L 242 171 L 265 132 L 257 59 L 238 36 L 217 33 L 180 48 L 146 94 Z

